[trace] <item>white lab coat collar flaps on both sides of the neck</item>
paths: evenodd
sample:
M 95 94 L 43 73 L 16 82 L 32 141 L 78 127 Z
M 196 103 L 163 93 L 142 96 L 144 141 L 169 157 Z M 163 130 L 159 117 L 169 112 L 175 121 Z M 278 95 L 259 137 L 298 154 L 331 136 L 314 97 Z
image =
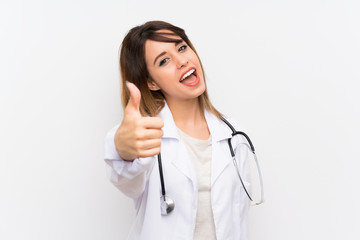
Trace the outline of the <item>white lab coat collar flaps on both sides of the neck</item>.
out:
M 179 139 L 179 133 L 175 124 L 174 118 L 171 114 L 170 108 L 165 102 L 165 106 L 160 111 L 158 117 L 164 121 L 164 135 L 163 138 L 176 138 Z M 214 114 L 205 110 L 205 119 L 210 130 L 211 138 L 213 141 L 221 141 L 231 138 L 230 128 Z

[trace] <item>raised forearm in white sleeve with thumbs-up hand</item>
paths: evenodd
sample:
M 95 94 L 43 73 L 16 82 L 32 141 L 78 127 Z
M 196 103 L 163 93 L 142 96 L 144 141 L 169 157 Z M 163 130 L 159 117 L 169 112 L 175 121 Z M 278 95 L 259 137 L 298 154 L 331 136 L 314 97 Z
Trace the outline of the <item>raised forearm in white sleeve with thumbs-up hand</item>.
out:
M 146 181 L 160 152 L 163 121 L 140 114 L 141 93 L 128 83 L 129 102 L 124 118 L 105 138 L 105 162 L 110 181 L 125 195 L 136 198 L 144 191 Z

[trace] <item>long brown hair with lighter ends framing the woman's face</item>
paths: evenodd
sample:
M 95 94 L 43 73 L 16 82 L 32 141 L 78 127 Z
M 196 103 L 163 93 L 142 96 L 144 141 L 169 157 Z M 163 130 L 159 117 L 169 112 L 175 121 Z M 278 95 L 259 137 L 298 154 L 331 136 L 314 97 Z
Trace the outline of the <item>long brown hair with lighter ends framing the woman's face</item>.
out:
M 158 30 L 169 30 L 174 34 L 164 32 L 159 33 L 157 32 Z M 126 81 L 134 83 L 141 92 L 140 112 L 142 115 L 155 116 L 164 107 L 165 97 L 162 92 L 160 90 L 151 91 L 147 84 L 147 79 L 150 75 L 145 62 L 145 42 L 146 40 L 175 43 L 181 42 L 179 39 L 169 38 L 166 37 L 166 35 L 179 36 L 199 58 L 194 46 L 186 36 L 185 31 L 179 27 L 163 21 L 149 21 L 143 25 L 132 28 L 125 36 L 120 51 L 120 72 L 122 79 L 121 100 L 124 109 L 130 98 L 129 90 L 126 87 Z M 200 65 L 204 72 L 201 61 Z M 199 102 L 201 107 L 209 110 L 217 117 L 220 118 L 222 116 L 222 114 L 211 104 L 206 88 L 199 96 Z

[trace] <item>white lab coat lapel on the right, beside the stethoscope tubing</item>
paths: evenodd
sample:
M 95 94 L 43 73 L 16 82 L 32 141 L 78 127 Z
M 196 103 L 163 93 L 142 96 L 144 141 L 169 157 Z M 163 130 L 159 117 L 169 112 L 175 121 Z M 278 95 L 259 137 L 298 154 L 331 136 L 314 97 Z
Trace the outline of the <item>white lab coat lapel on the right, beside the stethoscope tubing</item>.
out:
M 231 162 L 230 150 L 221 147 L 220 142 L 231 138 L 230 128 L 213 114 L 205 111 L 205 118 L 212 137 L 211 186 Z

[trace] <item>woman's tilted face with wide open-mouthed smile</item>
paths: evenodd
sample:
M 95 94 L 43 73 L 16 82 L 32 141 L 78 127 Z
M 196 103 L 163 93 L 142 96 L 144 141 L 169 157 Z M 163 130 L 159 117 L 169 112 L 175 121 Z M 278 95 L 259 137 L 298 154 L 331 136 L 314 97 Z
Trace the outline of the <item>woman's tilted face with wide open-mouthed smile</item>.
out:
M 150 90 L 161 90 L 168 102 L 196 99 L 205 91 L 199 58 L 185 41 L 167 43 L 147 40 L 145 61 L 151 77 L 148 79 Z

